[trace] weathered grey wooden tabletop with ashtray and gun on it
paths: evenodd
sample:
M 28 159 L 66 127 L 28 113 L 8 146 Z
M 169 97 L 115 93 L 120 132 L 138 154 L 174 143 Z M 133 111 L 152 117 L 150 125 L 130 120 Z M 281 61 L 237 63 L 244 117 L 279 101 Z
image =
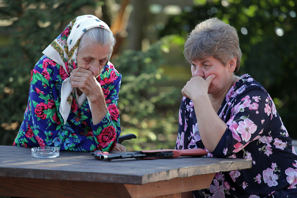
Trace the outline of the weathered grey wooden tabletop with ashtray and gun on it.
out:
M 18 153 L 18 154 L 16 154 Z M 0 177 L 146 184 L 251 167 L 250 160 L 210 157 L 100 161 L 90 152 L 60 152 L 57 158 L 31 156 L 31 149 L 0 146 Z

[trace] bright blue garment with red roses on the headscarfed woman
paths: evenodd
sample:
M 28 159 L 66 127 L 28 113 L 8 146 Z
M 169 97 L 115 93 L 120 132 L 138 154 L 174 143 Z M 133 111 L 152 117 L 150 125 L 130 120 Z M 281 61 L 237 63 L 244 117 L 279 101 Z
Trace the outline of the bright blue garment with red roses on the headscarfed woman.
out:
M 97 78 L 105 96 L 108 113 L 96 125 L 86 100 L 78 107 L 75 94 L 66 124 L 59 113 L 61 85 L 68 77 L 62 66 L 46 56 L 31 71 L 28 106 L 13 145 L 55 146 L 68 151 L 110 151 L 120 135 L 117 100 L 121 74 L 108 62 Z

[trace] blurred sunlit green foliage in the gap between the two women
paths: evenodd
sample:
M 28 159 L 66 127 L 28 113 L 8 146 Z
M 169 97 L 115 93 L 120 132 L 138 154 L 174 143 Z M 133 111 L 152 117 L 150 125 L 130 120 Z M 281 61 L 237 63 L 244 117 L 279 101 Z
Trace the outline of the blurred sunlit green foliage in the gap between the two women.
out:
M 173 106 L 180 103 L 181 93 L 166 87 L 168 79 L 160 68 L 165 61 L 162 48 L 169 47 L 170 40 L 164 37 L 147 51 L 127 50 L 113 60 L 123 75 L 118 102 L 121 134 L 138 137 L 124 143 L 127 151 L 175 146 L 178 114 Z

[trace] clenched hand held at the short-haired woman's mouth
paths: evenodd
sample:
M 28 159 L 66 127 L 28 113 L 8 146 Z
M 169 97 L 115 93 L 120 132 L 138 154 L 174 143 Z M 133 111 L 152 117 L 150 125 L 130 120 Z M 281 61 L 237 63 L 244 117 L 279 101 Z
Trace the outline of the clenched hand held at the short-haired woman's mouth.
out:
M 181 90 L 181 93 L 191 100 L 201 94 L 207 94 L 209 85 L 215 77 L 216 75 L 209 75 L 205 80 L 201 76 L 192 77 Z

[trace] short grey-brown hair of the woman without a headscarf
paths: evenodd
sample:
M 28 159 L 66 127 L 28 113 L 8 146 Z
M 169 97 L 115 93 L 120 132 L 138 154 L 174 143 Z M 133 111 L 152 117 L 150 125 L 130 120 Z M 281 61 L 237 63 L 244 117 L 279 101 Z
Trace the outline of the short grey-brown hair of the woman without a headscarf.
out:
M 199 23 L 184 45 L 184 57 L 188 62 L 214 57 L 226 66 L 236 57 L 234 72 L 239 69 L 241 55 L 236 29 L 218 18 Z

